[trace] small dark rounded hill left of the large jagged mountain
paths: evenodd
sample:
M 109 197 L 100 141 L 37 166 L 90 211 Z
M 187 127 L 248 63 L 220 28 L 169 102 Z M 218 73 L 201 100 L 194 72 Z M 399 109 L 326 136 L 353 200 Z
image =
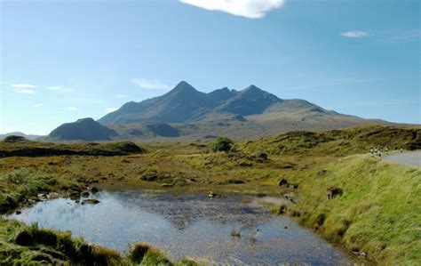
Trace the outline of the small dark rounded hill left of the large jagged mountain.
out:
M 53 141 L 110 141 L 117 133 L 92 118 L 79 119 L 73 123 L 60 125 L 46 140 Z

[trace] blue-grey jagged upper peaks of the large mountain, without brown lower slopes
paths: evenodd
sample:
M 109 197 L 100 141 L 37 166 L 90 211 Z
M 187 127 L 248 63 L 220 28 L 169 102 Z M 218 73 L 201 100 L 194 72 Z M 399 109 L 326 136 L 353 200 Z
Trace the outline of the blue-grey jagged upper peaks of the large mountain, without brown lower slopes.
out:
M 199 121 L 214 114 L 251 116 L 279 107 L 302 109 L 304 101 L 282 100 L 255 85 L 242 91 L 226 87 L 211 93 L 197 91 L 186 81 L 181 81 L 169 93 L 145 101 L 125 103 L 120 109 L 98 121 L 103 125 L 122 125 L 141 122 L 185 123 Z M 324 109 L 306 101 L 308 109 Z

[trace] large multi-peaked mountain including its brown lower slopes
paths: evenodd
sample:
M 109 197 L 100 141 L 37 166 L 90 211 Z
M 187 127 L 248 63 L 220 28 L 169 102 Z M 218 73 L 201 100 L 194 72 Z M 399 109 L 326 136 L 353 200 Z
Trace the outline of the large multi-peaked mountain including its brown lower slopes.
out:
M 280 99 L 256 85 L 242 91 L 224 87 L 211 93 L 202 93 L 186 81 L 162 96 L 127 102 L 98 122 L 115 129 L 123 138 L 135 139 L 162 136 L 203 138 L 208 135 L 242 139 L 294 130 L 393 125 L 383 120 L 339 114 L 306 100 Z M 164 123 L 165 127 L 161 126 L 158 131 L 149 130 L 146 127 L 148 123 Z

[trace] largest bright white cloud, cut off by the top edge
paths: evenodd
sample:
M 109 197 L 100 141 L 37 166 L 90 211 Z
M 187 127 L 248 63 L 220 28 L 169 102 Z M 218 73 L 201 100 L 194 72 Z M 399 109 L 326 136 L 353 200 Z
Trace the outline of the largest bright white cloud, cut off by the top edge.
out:
M 280 8 L 285 0 L 180 0 L 180 2 L 248 19 L 260 19 L 265 17 L 266 12 Z

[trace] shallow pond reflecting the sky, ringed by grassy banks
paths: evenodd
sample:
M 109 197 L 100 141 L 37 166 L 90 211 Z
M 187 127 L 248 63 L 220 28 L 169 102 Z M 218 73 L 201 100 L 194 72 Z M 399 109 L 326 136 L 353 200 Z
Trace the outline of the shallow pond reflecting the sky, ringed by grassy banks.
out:
M 209 198 L 153 190 L 101 191 L 97 205 L 69 198 L 39 202 L 9 218 L 40 227 L 71 230 L 120 251 L 146 242 L 177 261 L 226 264 L 347 264 L 352 261 L 310 230 L 269 214 L 250 196 Z M 231 233 L 239 232 L 240 237 Z

